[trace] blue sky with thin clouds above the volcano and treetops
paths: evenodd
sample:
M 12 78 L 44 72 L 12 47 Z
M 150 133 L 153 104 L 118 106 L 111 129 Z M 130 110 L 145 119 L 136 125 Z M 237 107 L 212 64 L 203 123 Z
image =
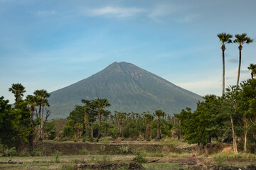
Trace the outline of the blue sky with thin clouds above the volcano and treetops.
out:
M 58 90 L 112 62 L 131 62 L 204 96 L 222 91 L 218 33 L 256 40 L 256 1 L 0 0 L 0 96 L 13 83 Z M 240 80 L 256 44 L 244 45 Z M 226 45 L 226 86 L 238 74 L 238 45 Z

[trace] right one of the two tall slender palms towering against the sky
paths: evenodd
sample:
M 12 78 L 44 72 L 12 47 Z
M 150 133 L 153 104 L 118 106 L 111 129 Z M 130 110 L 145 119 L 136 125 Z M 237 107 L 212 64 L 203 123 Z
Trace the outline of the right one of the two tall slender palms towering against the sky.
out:
M 245 43 L 249 44 L 249 43 L 253 42 L 253 40 L 250 37 L 248 37 L 246 33 L 242 33 L 241 35 L 236 34 L 235 38 L 236 39 L 234 40 L 234 42 L 239 44 L 239 46 L 238 46 L 238 50 L 239 50 L 238 81 L 237 81 L 237 84 L 236 84 L 237 89 L 238 89 L 239 78 L 240 78 L 240 68 L 241 68 L 242 45 L 244 45 Z

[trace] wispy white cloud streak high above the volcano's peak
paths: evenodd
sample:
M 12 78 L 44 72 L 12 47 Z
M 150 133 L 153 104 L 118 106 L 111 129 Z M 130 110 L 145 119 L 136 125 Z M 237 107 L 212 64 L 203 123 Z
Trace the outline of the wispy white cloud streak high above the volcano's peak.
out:
M 115 18 L 126 18 L 131 16 L 136 16 L 139 13 L 143 13 L 144 9 L 142 8 L 121 8 L 113 6 L 105 6 L 102 8 L 94 9 L 84 9 L 83 13 L 88 16 L 110 16 Z

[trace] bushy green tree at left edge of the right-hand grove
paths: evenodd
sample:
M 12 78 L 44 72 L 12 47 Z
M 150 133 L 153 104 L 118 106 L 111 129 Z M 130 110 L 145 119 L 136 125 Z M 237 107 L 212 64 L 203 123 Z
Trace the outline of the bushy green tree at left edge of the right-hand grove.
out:
M 186 108 L 177 117 L 181 120 L 184 139 L 190 144 L 197 143 L 199 153 L 202 145 L 208 154 L 207 144 L 212 137 L 218 137 L 220 129 L 221 101 L 215 95 L 206 95 L 203 99 L 205 101 L 198 102 L 196 111 L 191 113 L 191 109 Z

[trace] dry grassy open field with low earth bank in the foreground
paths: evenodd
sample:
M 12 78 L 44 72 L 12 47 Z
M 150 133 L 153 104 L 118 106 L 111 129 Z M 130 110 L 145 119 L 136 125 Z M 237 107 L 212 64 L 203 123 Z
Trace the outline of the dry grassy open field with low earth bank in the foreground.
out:
M 212 148 L 211 148 L 212 147 Z M 196 155 L 195 146 L 176 140 L 169 142 L 42 142 L 36 145 L 40 157 L 0 157 L 0 169 L 75 169 L 80 164 L 122 164 L 145 159 L 144 169 L 195 169 L 215 166 L 256 165 L 254 154 L 234 155 L 230 145 L 213 145 L 218 154 Z M 224 152 L 222 152 L 224 150 Z M 125 169 L 120 167 L 119 169 Z

